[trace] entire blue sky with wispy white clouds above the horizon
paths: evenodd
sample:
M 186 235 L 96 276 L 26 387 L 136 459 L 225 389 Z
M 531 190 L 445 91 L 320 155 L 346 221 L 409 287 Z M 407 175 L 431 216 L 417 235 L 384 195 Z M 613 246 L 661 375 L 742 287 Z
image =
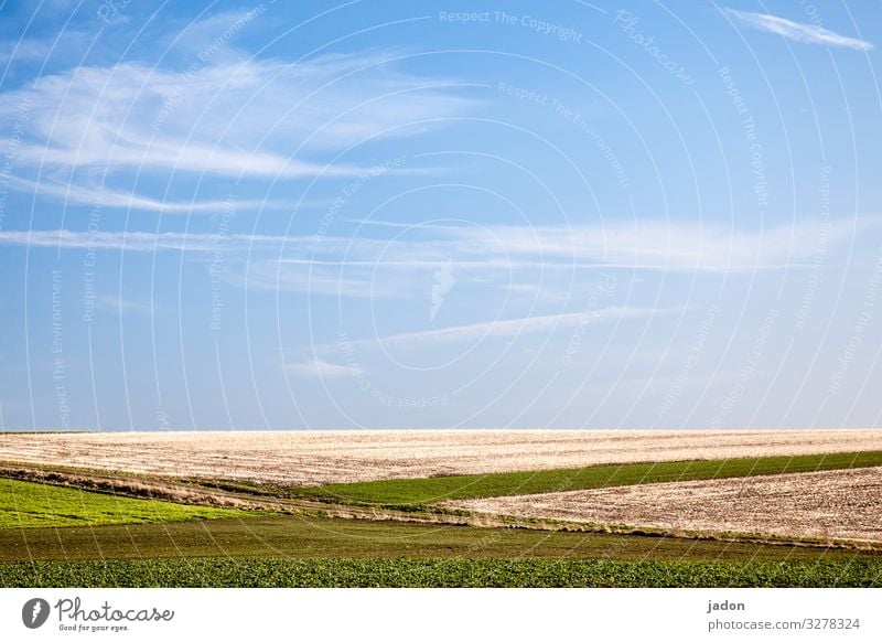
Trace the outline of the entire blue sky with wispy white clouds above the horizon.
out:
M 0 4 L 3 428 L 879 425 L 879 3 L 290 4 Z

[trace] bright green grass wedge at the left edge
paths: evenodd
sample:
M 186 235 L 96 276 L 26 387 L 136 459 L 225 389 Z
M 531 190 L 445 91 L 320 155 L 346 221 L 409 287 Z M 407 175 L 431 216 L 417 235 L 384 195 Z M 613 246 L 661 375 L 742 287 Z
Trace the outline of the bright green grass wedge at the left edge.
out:
M 0 479 L 0 529 L 211 520 L 247 513 Z

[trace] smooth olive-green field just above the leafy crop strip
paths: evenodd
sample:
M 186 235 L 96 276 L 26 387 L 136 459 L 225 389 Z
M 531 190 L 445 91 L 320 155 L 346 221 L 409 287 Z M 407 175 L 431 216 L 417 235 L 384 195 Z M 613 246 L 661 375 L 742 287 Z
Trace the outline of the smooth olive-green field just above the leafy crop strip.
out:
M 846 548 L 299 516 L 0 531 L 0 561 L 218 556 L 882 561 Z

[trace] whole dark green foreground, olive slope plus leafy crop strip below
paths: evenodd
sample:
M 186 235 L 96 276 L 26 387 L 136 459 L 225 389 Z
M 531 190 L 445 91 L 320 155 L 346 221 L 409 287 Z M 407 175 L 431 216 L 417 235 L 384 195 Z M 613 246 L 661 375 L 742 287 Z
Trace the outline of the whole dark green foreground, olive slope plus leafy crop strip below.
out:
M 871 550 L 295 516 L 8 529 L 0 560 L 6 587 L 882 586 Z

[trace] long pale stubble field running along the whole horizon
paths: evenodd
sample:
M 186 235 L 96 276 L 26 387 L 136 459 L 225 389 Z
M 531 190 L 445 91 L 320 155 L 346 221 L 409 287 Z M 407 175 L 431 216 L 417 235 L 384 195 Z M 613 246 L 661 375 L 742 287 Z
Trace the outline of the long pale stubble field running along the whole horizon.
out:
M 0 461 L 301 485 L 853 450 L 882 430 L 0 434 Z

